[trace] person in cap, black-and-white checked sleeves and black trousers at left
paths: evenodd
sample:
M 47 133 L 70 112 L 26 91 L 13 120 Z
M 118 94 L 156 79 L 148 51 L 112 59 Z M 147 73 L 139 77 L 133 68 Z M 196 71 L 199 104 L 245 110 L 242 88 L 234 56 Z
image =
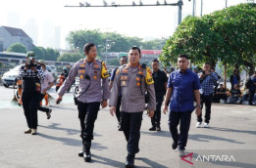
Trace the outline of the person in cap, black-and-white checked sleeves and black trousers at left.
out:
M 35 63 L 35 54 L 27 52 L 26 64 L 19 69 L 18 80 L 23 80 L 23 107 L 28 129 L 25 134 L 37 134 L 37 108 L 40 102 L 40 80 L 44 79 L 40 64 Z

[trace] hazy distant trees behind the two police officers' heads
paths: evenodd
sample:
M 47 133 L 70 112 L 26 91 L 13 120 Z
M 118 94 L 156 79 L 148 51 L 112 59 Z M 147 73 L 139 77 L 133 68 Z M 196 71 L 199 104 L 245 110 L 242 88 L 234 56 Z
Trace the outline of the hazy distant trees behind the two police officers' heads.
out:
M 83 46 L 87 42 L 93 42 L 98 49 L 98 55 L 102 52 L 128 52 L 132 46 L 142 47 L 144 50 L 160 50 L 165 39 L 156 39 L 142 42 L 138 37 L 127 37 L 116 32 L 100 32 L 99 30 L 71 31 L 67 39 L 72 49 L 78 49 L 83 53 Z

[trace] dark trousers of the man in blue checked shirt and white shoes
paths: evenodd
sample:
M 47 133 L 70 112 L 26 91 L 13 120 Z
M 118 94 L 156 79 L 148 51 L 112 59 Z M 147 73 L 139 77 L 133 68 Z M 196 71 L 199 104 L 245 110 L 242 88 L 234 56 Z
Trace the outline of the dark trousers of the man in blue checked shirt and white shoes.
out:
M 201 95 L 201 108 L 203 108 L 203 104 L 205 104 L 205 115 L 204 122 L 209 123 L 211 119 L 211 106 L 212 106 L 213 94 L 210 95 Z M 202 113 L 197 117 L 198 122 L 202 122 Z

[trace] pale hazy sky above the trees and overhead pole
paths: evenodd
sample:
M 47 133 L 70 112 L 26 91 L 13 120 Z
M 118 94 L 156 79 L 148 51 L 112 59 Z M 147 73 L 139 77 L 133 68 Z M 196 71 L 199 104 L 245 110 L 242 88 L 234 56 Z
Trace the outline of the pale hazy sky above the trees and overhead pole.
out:
M 114 0 L 106 0 L 109 4 Z M 166 0 L 177 3 L 178 0 Z M 182 18 L 192 14 L 192 1 L 183 0 Z M 246 0 L 228 0 L 228 6 Z M 0 25 L 26 29 L 36 45 L 55 47 L 53 29 L 60 27 L 61 48 L 66 48 L 65 38 L 69 31 L 97 28 L 116 31 L 127 36 L 162 38 L 172 35 L 178 25 L 178 7 L 134 7 L 134 8 L 65 8 L 78 5 L 79 0 L 5 0 L 0 5 Z M 91 5 L 101 5 L 102 0 L 87 0 Z M 131 4 L 132 0 L 116 0 L 116 4 Z M 134 0 L 139 3 L 139 0 Z M 164 0 L 159 0 L 163 3 Z M 144 4 L 155 4 L 156 0 L 142 0 Z M 226 0 L 203 0 L 203 15 L 225 8 Z M 201 0 L 196 0 L 196 16 L 200 16 Z M 29 29 L 31 22 L 32 30 Z M 31 27 L 31 26 L 30 26 Z M 28 31 L 28 32 L 27 32 Z

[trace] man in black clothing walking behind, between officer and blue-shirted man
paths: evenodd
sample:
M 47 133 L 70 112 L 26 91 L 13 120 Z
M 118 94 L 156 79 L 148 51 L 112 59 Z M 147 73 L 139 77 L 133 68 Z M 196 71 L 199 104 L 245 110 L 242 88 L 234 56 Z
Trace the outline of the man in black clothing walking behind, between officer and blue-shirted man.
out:
M 156 111 L 154 116 L 151 118 L 152 127 L 149 129 L 149 131 L 161 131 L 161 106 L 166 94 L 168 78 L 166 73 L 159 69 L 159 61 L 157 59 L 154 59 L 151 65 L 153 67 L 152 76 L 154 79 L 156 94 Z

